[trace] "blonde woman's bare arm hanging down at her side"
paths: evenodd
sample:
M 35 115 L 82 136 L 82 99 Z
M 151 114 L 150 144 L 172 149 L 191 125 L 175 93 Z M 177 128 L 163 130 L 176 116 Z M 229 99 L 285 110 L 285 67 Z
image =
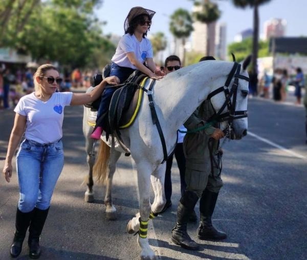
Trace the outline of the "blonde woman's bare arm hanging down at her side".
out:
M 25 132 L 26 122 L 27 122 L 27 116 L 16 113 L 14 126 L 10 136 L 8 152 L 3 167 L 3 174 L 5 175 L 6 181 L 8 183 L 10 182 L 10 178 L 12 177 L 12 171 L 13 171 L 12 158 L 20 142 L 20 139 Z

